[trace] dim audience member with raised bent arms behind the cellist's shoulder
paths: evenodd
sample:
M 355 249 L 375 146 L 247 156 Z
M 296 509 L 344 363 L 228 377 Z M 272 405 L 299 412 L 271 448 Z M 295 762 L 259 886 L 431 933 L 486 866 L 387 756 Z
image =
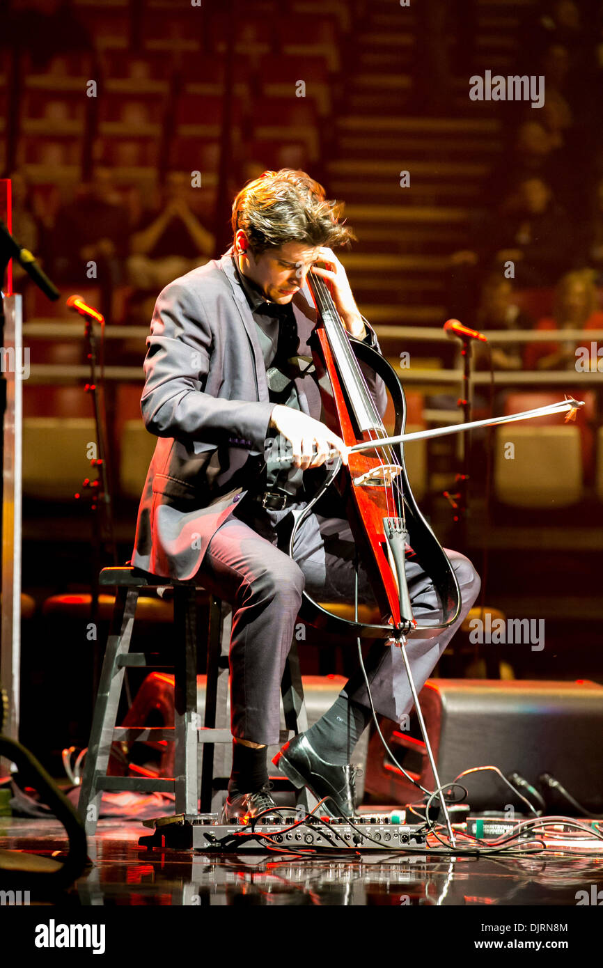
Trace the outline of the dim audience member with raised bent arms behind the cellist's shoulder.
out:
M 142 289 L 164 287 L 214 255 L 214 236 L 201 225 L 191 207 L 193 191 L 185 172 L 168 172 L 162 204 L 144 213 L 131 239 L 131 285 Z

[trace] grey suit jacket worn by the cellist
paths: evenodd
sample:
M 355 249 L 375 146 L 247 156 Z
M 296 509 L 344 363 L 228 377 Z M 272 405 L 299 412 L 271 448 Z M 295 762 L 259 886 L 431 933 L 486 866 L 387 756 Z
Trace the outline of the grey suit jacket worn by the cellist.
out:
M 309 356 L 317 311 L 307 286 L 294 296 L 293 311 L 299 355 Z M 256 472 L 250 456 L 263 455 L 275 406 L 256 322 L 228 254 L 166 286 L 146 344 L 140 407 L 147 430 L 159 439 L 138 508 L 132 563 L 186 580 L 248 490 Z M 295 382 L 300 408 L 319 419 L 315 378 Z M 383 413 L 381 380 L 369 378 L 369 386 Z

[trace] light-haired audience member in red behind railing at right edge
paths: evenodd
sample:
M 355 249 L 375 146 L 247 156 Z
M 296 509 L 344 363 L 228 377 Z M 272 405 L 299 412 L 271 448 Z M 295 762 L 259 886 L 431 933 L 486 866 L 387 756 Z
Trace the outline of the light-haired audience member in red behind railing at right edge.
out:
M 603 329 L 603 313 L 598 307 L 598 293 L 593 273 L 588 269 L 564 275 L 555 290 L 553 316 L 539 319 L 536 330 Z M 527 370 L 575 370 L 575 340 L 558 343 L 528 343 L 525 353 Z M 588 344 L 584 344 L 588 346 Z

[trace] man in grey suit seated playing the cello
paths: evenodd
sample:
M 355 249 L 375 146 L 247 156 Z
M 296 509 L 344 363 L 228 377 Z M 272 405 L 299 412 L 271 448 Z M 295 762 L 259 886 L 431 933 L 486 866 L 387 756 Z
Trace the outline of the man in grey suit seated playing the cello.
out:
M 235 198 L 232 229 L 232 247 L 223 257 L 174 280 L 157 300 L 141 409 L 147 430 L 159 439 L 132 558 L 153 574 L 198 578 L 232 606 L 233 754 L 223 823 L 276 807 L 266 747 L 279 740 L 280 684 L 302 591 L 335 601 L 353 595 L 355 545 L 336 495 L 328 506 L 317 503 L 292 557 L 279 540 L 291 509 L 303 507 L 311 495 L 314 469 L 332 450 L 347 461 L 343 440 L 320 422 L 317 378 L 304 363 L 317 321 L 306 281 L 311 268 L 330 283 L 348 335 L 378 349 L 332 251 L 353 236 L 316 181 L 290 169 L 264 172 Z M 292 376 L 291 366 L 297 367 Z M 368 370 L 366 379 L 382 414 L 382 381 Z M 292 460 L 271 461 L 269 455 L 282 453 L 279 444 L 286 441 Z M 408 639 L 417 691 L 480 587 L 467 558 L 446 555 L 461 590 L 461 612 L 437 638 Z M 412 560 L 406 572 L 413 614 L 437 616 L 431 579 Z M 369 600 L 362 566 L 358 585 Z M 365 666 L 377 713 L 401 722 L 412 697 L 400 650 L 377 641 Z M 333 816 L 353 812 L 349 757 L 371 718 L 358 669 L 332 708 L 277 758 L 296 785 L 331 798 L 325 808 Z

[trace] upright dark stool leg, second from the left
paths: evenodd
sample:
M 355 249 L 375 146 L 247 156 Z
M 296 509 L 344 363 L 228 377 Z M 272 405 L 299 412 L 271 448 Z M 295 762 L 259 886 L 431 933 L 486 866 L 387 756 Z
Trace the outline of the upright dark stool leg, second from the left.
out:
M 174 791 L 175 812 L 198 810 L 196 713 L 196 589 L 174 587 Z

